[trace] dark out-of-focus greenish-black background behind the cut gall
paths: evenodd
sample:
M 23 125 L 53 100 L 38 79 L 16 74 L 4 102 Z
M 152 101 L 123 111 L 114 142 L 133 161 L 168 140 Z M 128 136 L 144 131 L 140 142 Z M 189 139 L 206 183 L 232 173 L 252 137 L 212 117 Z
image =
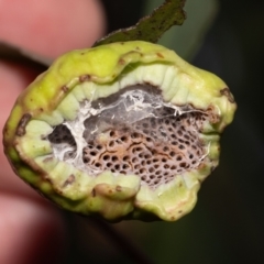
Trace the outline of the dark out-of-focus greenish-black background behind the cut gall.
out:
M 163 1 L 102 2 L 111 32 L 133 25 L 147 4 Z M 151 263 L 264 263 L 264 1 L 187 0 L 186 11 L 189 29 L 183 33 L 185 24 L 177 26 L 168 46 L 224 79 L 239 106 L 221 140 L 220 166 L 202 184 L 196 208 L 179 221 L 110 227 Z M 140 263 L 105 226 L 69 218 L 69 263 Z

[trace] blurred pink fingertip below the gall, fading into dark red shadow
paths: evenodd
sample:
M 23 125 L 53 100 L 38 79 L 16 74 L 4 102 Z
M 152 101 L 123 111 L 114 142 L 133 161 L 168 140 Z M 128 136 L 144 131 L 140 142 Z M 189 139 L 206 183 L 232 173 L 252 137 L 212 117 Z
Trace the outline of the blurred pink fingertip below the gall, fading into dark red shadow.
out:
M 0 194 L 0 263 L 63 263 L 65 223 L 53 207 Z

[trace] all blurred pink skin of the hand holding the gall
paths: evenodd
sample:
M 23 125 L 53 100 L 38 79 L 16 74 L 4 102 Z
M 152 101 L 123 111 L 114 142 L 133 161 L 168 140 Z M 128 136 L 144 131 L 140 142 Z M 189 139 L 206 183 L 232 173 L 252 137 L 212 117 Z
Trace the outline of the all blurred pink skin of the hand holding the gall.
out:
M 0 0 L 1 40 L 44 57 L 88 47 L 103 32 L 99 1 Z M 25 65 L 0 59 L 1 131 L 15 98 L 37 74 Z M 2 134 L 0 138 L 2 141 Z M 0 166 L 0 263 L 63 263 L 67 232 L 59 210 L 14 175 L 2 144 Z

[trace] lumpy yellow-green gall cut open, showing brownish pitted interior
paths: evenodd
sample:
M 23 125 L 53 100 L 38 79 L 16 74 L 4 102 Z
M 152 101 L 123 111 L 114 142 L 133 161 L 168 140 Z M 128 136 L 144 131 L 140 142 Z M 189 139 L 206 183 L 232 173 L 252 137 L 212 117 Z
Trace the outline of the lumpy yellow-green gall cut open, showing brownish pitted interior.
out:
M 146 42 L 58 58 L 3 131 L 14 172 L 61 207 L 109 221 L 174 221 L 219 161 L 235 111 L 227 85 Z

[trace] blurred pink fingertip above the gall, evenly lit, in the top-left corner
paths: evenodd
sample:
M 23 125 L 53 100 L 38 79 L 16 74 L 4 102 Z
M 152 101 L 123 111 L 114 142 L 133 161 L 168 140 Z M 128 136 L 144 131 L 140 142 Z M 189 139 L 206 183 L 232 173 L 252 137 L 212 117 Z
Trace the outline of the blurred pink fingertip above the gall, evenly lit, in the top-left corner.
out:
M 0 1 L 1 38 L 42 56 L 89 47 L 105 28 L 100 1 Z

